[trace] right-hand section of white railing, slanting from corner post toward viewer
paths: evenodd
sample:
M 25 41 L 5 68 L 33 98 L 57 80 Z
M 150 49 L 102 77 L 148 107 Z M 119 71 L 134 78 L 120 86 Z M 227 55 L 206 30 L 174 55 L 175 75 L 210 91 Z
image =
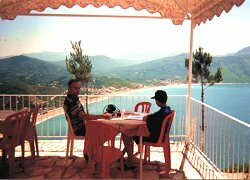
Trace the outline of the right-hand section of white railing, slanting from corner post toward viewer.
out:
M 249 124 L 194 98 L 191 98 L 190 119 L 191 143 L 212 165 L 214 172 L 226 175 L 233 172 L 229 177 L 233 179 L 239 179 L 240 172 L 249 172 Z

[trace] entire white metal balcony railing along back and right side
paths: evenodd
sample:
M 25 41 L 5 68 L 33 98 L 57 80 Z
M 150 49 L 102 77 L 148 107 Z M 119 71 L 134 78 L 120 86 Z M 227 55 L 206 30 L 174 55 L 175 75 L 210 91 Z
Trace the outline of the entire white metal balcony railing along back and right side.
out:
M 81 95 L 79 97 L 85 108 L 87 100 L 88 112 L 92 114 L 101 114 L 107 104 L 115 104 L 120 110 L 132 111 L 134 105 L 140 101 L 151 101 L 151 112 L 158 110 L 150 96 L 91 95 L 87 97 Z M 36 103 L 42 103 L 37 120 L 39 138 L 66 138 L 67 123 L 61 108 L 64 98 L 64 95 L 0 95 L 0 109 L 18 111 L 24 107 L 32 108 Z M 170 132 L 171 140 L 186 141 L 190 144 L 192 152 L 199 153 L 212 167 L 210 178 L 218 178 L 220 174 L 235 179 L 240 178 L 241 172 L 249 172 L 249 124 L 191 98 L 190 131 L 188 131 L 186 128 L 187 96 L 169 96 L 168 105 L 176 110 Z M 204 123 L 202 123 L 202 109 Z M 188 155 L 187 158 L 189 158 Z

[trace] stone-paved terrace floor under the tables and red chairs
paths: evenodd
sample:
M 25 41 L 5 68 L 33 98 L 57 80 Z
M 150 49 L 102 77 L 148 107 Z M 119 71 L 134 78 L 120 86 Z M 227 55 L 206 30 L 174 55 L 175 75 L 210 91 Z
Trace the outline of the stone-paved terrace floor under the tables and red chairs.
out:
M 119 143 L 119 142 L 117 142 Z M 32 162 L 29 153 L 29 145 L 25 149 L 25 168 L 20 167 L 20 158 L 16 158 L 17 179 L 86 179 L 86 161 L 83 158 L 83 141 L 77 140 L 74 145 L 74 156 L 66 159 L 66 140 L 40 140 L 40 157 L 36 157 Z M 135 148 L 137 149 L 137 148 Z M 171 144 L 171 166 L 176 169 L 171 179 L 202 179 L 201 175 L 183 156 L 184 146 L 181 143 Z M 20 148 L 16 150 L 16 156 L 20 156 Z M 134 171 L 125 171 L 126 179 L 139 178 L 139 156 L 136 157 L 138 168 Z M 143 165 L 143 179 L 166 178 L 160 172 L 164 169 L 164 155 L 161 148 L 151 148 L 151 161 Z M 119 165 L 118 165 L 119 166 Z M 120 179 L 121 173 L 118 166 L 111 169 L 111 178 Z M 1 167 L 1 174 L 6 175 L 6 169 Z M 2 176 L 2 178 L 4 178 Z M 5 176 L 6 178 L 6 176 Z M 88 178 L 98 178 L 96 174 L 90 174 Z

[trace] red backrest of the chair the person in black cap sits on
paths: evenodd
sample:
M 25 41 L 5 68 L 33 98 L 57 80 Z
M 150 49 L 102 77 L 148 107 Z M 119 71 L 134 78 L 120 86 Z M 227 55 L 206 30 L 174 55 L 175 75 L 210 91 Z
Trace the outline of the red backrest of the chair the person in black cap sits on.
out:
M 169 141 L 169 132 L 174 119 L 174 115 L 175 115 L 175 110 L 172 110 L 172 112 L 164 118 L 161 125 L 161 133 L 157 144 L 161 144 L 164 141 Z

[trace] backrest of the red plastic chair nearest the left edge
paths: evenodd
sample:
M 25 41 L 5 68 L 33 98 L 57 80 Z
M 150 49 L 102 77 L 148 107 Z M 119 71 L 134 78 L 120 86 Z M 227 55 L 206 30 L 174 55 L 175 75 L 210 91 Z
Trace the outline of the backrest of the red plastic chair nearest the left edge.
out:
M 5 132 L 3 141 L 13 146 L 17 146 L 23 140 L 24 125 L 28 115 L 28 109 L 9 115 L 5 120 Z

